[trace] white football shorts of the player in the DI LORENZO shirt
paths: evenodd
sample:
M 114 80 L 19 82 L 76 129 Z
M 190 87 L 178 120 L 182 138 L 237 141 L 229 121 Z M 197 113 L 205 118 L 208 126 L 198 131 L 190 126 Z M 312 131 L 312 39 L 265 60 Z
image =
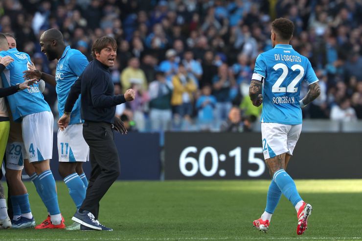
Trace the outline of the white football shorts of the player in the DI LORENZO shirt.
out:
M 261 123 L 264 159 L 282 153 L 293 155 L 296 142 L 299 139 L 302 125 L 285 125 L 279 123 Z

